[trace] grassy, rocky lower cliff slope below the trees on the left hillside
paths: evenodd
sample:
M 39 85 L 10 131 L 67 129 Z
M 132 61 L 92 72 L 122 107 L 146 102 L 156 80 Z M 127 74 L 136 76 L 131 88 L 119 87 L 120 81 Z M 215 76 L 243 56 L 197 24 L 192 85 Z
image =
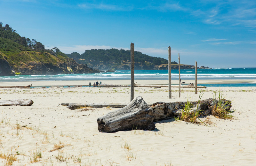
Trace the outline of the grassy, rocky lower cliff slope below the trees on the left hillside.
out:
M 0 51 L 0 76 L 47 75 L 60 73 L 96 73 L 98 70 L 86 64 L 77 64 L 72 58 L 61 57 L 53 51 L 21 51 L 18 55 L 6 56 Z

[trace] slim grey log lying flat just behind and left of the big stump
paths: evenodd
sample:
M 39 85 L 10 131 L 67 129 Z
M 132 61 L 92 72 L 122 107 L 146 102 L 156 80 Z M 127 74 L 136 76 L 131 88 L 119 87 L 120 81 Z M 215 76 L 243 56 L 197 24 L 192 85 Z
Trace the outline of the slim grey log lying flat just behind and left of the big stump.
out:
M 68 109 L 74 110 L 74 109 L 80 109 L 83 107 L 94 107 L 94 108 L 103 108 L 103 107 L 113 107 L 113 108 L 123 108 L 129 103 L 61 103 L 60 105 L 67 106 Z

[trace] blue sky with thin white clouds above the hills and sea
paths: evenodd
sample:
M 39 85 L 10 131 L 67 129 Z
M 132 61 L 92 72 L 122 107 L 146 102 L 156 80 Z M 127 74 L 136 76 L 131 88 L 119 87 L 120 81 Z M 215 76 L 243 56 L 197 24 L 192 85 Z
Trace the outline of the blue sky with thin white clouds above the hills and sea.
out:
M 0 22 L 47 49 L 130 49 L 181 64 L 256 67 L 255 0 L 0 0 Z

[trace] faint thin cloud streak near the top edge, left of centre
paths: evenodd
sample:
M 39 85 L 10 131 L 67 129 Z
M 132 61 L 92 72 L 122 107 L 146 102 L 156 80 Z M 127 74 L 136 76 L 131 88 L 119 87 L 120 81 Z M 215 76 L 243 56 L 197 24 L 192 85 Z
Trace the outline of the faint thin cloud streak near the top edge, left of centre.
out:
M 118 6 L 113 4 L 90 4 L 90 3 L 84 3 L 84 4 L 78 4 L 78 7 L 83 9 L 99 9 L 99 10 L 107 10 L 107 11 L 131 11 L 133 9 L 132 6 L 124 7 L 124 6 Z

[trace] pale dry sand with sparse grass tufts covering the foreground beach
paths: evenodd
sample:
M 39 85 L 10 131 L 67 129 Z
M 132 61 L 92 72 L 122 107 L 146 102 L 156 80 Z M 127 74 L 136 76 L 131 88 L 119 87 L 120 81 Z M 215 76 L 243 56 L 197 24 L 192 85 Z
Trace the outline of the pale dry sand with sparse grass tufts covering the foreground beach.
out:
M 134 96 L 148 103 L 198 100 L 193 88 L 181 90 L 179 98 L 178 88 L 172 88 L 168 99 L 168 88 L 135 87 Z M 34 104 L 0 107 L 0 162 L 5 165 L 16 158 L 13 165 L 254 165 L 256 87 L 208 87 L 202 89 L 202 100 L 219 90 L 233 100 L 232 115 L 237 119 L 201 118 L 208 126 L 169 119 L 157 122 L 155 131 L 104 133 L 97 129 L 97 118 L 115 108 L 70 110 L 60 103 L 129 102 L 130 88 L 2 88 L 0 100 L 32 99 Z

